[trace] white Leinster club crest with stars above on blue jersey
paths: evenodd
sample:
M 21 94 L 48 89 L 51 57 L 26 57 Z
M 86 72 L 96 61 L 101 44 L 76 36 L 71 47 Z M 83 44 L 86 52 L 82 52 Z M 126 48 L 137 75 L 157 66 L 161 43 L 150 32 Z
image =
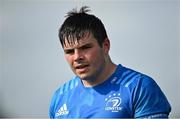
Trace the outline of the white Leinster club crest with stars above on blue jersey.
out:
M 119 112 L 122 107 L 121 105 L 121 98 L 120 98 L 120 93 L 113 93 L 109 95 L 107 98 L 105 98 L 105 110 L 106 111 L 111 111 L 111 112 Z

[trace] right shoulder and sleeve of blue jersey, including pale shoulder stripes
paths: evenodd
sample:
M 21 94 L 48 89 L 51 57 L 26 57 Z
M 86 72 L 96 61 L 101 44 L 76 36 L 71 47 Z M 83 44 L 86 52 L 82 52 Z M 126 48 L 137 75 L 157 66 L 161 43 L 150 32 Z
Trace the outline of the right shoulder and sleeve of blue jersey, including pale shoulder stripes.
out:
M 171 106 L 161 88 L 150 76 L 130 68 L 121 68 L 121 86 L 129 89 L 135 117 L 169 114 Z

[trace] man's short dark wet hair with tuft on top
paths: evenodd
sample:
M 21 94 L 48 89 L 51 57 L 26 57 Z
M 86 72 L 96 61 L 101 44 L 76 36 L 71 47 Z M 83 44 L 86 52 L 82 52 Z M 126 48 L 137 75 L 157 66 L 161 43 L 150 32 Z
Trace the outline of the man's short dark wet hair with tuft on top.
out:
M 74 43 L 75 40 L 81 39 L 85 33 L 92 33 L 95 39 L 98 41 L 100 47 L 105 38 L 107 38 L 107 33 L 104 24 L 95 15 L 88 14 L 89 7 L 83 6 L 79 12 L 77 9 L 67 13 L 67 18 L 61 25 L 59 30 L 59 39 L 61 45 L 65 45 L 65 39 L 68 43 Z

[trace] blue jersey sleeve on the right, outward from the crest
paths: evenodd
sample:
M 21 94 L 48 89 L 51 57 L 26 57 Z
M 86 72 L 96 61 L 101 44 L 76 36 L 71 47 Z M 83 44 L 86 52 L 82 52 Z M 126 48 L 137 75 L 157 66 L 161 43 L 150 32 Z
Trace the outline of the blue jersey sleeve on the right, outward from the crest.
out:
M 153 115 L 169 115 L 171 106 L 157 83 L 150 77 L 142 75 L 137 82 L 133 107 L 135 118 Z

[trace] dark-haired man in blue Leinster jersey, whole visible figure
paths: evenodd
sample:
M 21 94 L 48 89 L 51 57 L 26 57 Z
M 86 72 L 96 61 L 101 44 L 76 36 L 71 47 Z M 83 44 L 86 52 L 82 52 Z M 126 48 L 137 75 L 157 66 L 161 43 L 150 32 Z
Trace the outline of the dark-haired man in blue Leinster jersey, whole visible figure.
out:
M 155 81 L 116 65 L 103 23 L 87 7 L 67 15 L 59 31 L 76 74 L 54 94 L 51 118 L 167 118 L 171 107 Z

